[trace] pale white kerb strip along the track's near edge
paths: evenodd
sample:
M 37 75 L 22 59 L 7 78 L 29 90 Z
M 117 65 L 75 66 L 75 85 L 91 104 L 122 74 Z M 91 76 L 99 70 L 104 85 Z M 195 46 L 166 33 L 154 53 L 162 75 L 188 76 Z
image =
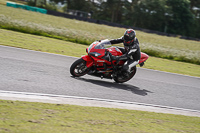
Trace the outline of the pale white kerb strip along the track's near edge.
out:
M 93 107 L 121 108 L 121 109 L 141 110 L 141 111 L 150 111 L 150 112 L 157 112 L 157 113 L 168 113 L 168 114 L 178 114 L 178 115 L 200 117 L 200 111 L 198 110 L 138 103 L 138 102 L 111 100 L 111 99 L 79 97 L 79 96 L 0 90 L 0 99 L 19 100 L 19 101 L 28 101 L 28 102 L 72 104 L 72 105 L 93 106 Z

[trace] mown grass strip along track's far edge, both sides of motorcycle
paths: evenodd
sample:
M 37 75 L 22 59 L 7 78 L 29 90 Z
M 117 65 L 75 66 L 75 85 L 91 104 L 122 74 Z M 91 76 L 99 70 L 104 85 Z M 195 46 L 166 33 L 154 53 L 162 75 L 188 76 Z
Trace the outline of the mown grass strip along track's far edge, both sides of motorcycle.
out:
M 68 41 L 24 34 L 0 29 L 0 45 L 13 46 L 42 52 L 81 57 L 85 55 L 86 45 Z M 190 63 L 150 57 L 144 68 L 200 77 L 200 66 Z

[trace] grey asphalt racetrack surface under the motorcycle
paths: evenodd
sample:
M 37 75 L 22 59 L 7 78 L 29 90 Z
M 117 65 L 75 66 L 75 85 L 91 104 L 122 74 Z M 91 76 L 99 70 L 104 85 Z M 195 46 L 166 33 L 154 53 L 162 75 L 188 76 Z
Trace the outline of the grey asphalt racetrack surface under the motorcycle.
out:
M 0 46 L 0 90 L 138 102 L 200 111 L 200 78 L 138 68 L 117 84 L 93 76 L 73 78 L 77 58 Z

